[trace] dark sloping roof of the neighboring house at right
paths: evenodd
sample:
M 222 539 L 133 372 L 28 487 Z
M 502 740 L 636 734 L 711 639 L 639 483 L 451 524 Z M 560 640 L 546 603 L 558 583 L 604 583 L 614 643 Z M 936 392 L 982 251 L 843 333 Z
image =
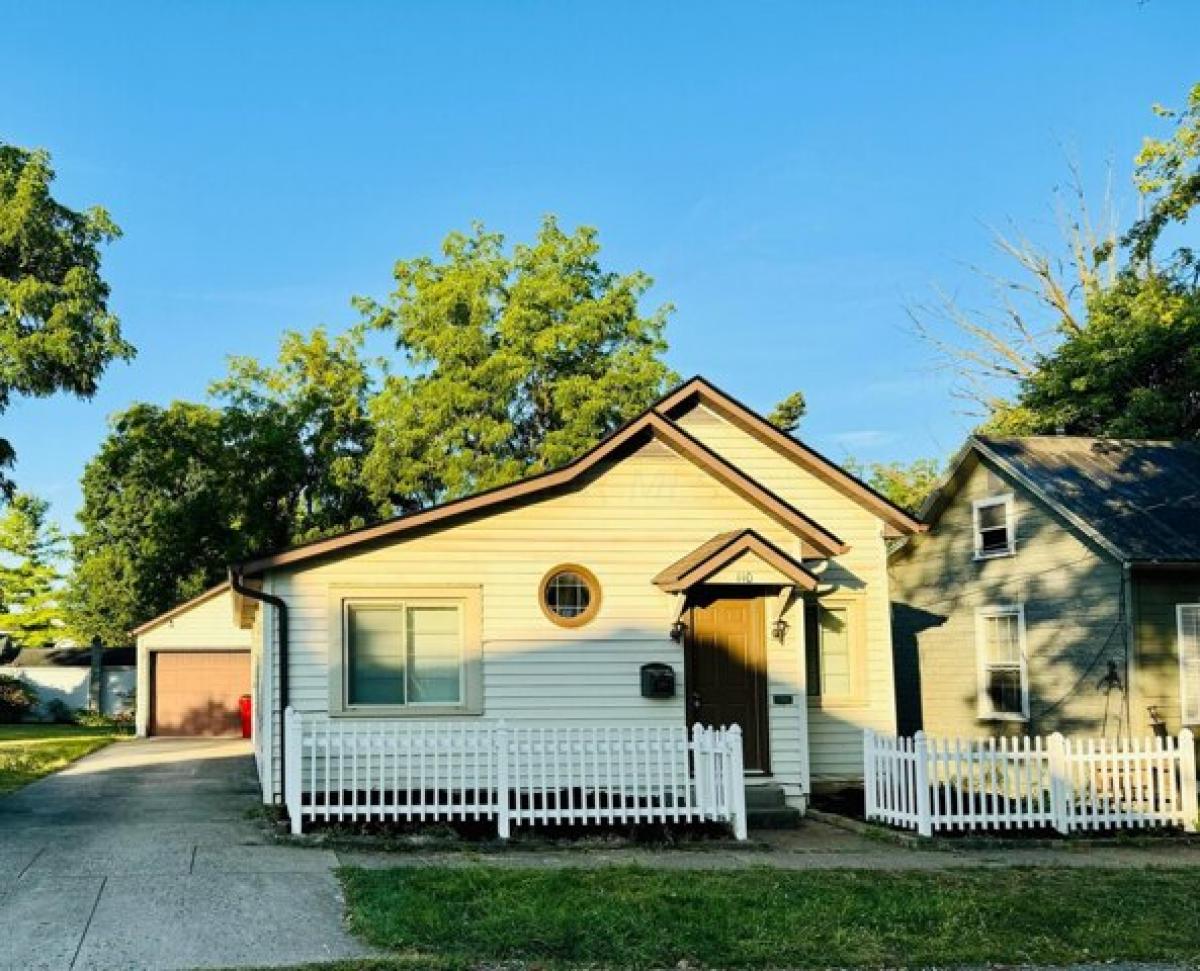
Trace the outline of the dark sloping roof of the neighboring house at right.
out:
M 976 437 L 974 446 L 1129 563 L 1200 563 L 1200 443 Z

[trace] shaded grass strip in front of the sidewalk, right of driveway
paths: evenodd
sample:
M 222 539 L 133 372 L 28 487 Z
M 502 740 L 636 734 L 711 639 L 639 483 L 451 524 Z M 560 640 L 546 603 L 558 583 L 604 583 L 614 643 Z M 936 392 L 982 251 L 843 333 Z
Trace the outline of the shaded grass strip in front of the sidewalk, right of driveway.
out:
M 1200 959 L 1195 870 L 341 871 L 394 957 L 320 967 L 888 967 Z

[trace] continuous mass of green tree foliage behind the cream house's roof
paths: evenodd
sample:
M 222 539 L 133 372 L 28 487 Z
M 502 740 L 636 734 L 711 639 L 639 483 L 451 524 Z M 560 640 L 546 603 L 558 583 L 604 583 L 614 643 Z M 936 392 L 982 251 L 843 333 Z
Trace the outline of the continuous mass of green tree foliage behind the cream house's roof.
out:
M 121 643 L 227 564 L 570 461 L 673 379 L 667 307 L 601 269 L 595 232 L 547 218 L 511 253 L 476 227 L 396 265 L 383 304 L 331 337 L 234 358 L 211 404 L 136 404 L 83 476 L 71 621 Z M 370 329 L 408 365 L 364 355 Z

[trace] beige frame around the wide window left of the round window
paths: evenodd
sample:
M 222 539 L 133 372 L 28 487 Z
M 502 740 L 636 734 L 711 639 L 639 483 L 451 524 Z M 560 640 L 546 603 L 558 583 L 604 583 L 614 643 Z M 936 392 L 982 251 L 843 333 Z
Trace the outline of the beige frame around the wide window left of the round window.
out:
M 352 705 L 349 702 L 349 616 L 355 605 L 395 605 L 407 609 L 455 606 L 460 611 L 462 636 L 460 700 L 456 703 L 409 702 L 403 705 Z M 329 589 L 329 714 L 335 718 L 428 718 L 431 715 L 473 715 L 484 712 L 482 677 L 482 593 L 480 587 L 425 587 L 335 585 Z M 407 652 L 407 634 L 404 651 Z M 407 657 L 406 657 L 407 665 Z M 407 673 L 407 672 L 406 672 Z

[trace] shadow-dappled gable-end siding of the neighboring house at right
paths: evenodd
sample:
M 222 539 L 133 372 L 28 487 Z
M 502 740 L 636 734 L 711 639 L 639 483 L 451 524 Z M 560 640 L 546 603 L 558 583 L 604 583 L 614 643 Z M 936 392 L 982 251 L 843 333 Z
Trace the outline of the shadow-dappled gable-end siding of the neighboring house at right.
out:
M 1014 496 L 1016 553 L 976 561 L 972 503 L 1006 492 Z M 948 505 L 929 533 L 893 557 L 890 574 L 901 731 L 961 737 L 1122 731 L 1123 695 L 1106 696 L 1097 684 L 1109 661 L 1126 678 L 1130 624 L 1123 569 L 1000 469 L 968 458 Z M 1007 604 L 1025 609 L 1028 723 L 978 714 L 976 612 Z

